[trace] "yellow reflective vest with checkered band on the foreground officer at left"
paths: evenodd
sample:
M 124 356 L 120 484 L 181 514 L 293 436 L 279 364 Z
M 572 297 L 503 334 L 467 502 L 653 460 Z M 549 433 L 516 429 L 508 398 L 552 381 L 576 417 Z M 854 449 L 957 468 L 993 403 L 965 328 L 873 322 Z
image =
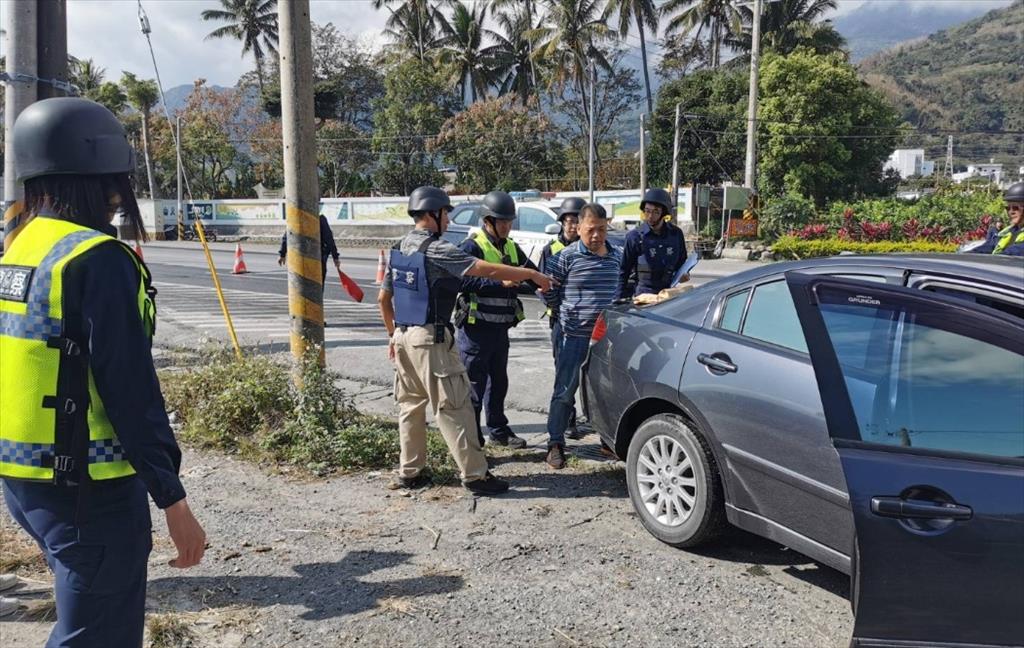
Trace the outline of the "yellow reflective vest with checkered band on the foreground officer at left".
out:
M 0 258 L 0 477 L 60 481 L 83 464 L 94 480 L 135 473 L 96 392 L 88 346 L 67 330 L 65 268 L 108 242 L 139 269 L 139 316 L 152 336 L 148 269 L 113 236 L 36 216 Z

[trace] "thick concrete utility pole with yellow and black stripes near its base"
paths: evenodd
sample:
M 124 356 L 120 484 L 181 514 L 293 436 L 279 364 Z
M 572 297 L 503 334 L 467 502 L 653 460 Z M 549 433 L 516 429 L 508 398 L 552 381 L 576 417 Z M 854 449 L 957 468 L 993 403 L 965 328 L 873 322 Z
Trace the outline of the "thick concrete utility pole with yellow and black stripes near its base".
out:
M 324 360 L 324 284 L 309 0 L 282 2 L 278 7 L 278 25 L 288 225 L 288 311 L 292 317 L 292 355 L 301 366 L 311 347 L 319 349 L 321 361 Z

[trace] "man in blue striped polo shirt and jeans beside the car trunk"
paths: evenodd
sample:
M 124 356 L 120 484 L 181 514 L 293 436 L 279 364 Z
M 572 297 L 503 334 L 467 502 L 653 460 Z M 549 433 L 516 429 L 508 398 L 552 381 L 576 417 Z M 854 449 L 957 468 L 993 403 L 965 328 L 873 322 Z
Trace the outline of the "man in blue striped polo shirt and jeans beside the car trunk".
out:
M 561 345 L 555 360 L 555 388 L 548 407 L 548 465 L 565 467 L 565 428 L 580 387 L 580 368 L 590 348 L 590 334 L 605 308 L 618 296 L 622 251 L 607 243 L 608 215 L 596 203 L 580 210 L 580 240 L 548 259 L 544 271 L 557 289 L 545 295 L 558 312 Z M 557 284 L 556 284 L 557 282 Z

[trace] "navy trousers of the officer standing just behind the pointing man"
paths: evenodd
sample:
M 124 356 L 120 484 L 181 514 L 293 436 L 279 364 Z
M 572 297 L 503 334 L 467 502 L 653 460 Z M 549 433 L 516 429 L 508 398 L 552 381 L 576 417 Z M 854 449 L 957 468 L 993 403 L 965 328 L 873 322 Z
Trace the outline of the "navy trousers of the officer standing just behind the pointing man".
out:
M 476 409 L 477 436 L 483 445 L 480 411 L 486 413 L 487 433 L 492 438 L 506 438 L 511 430 L 505 416 L 505 396 L 509 391 L 509 330 L 503 325 L 467 325 L 456 333 L 459 357 L 466 365 Z

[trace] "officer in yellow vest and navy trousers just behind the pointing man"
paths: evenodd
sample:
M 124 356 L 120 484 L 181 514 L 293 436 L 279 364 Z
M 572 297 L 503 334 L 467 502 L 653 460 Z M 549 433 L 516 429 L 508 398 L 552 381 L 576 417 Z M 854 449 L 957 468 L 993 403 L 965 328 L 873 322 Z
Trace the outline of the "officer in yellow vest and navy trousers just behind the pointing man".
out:
M 537 270 L 522 249 L 509 239 L 514 221 L 512 197 L 505 191 L 490 191 L 483 197 L 483 229 L 464 241 L 460 248 L 488 263 Z M 509 391 L 509 329 L 524 318 L 518 288 L 518 282 L 477 276 L 462 279 L 455 313 L 456 343 L 473 386 L 477 437 L 481 446 L 484 442 L 483 430 L 479 427 L 482 409 L 493 443 L 526 447 L 526 441 L 515 435 L 505 416 L 505 396 Z

